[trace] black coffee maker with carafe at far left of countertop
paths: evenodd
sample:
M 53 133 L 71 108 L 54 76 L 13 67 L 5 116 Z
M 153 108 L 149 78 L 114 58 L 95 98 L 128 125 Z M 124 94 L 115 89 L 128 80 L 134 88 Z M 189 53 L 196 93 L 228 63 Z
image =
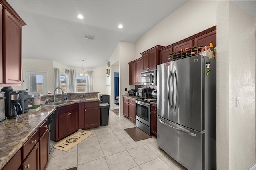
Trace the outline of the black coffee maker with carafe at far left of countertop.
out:
M 4 92 L 4 105 L 5 116 L 7 119 L 15 119 L 22 114 L 22 108 L 20 106 L 20 99 L 18 91 L 13 91 L 12 87 L 4 87 L 1 89 Z

